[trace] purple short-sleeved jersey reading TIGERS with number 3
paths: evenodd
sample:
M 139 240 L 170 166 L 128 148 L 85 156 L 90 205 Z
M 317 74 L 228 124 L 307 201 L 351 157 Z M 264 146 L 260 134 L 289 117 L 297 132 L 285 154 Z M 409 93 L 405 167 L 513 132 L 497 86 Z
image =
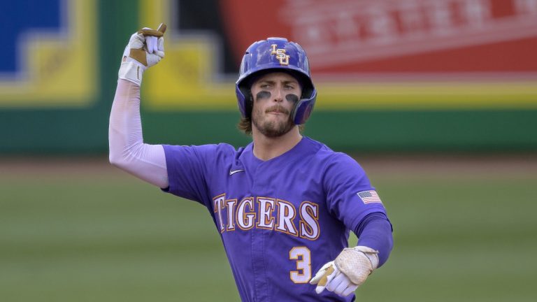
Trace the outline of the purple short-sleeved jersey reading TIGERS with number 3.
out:
M 374 192 L 366 173 L 307 137 L 268 161 L 252 147 L 164 145 L 169 192 L 208 208 L 242 301 L 353 301 L 308 282 L 362 218 L 385 213 L 358 195 Z

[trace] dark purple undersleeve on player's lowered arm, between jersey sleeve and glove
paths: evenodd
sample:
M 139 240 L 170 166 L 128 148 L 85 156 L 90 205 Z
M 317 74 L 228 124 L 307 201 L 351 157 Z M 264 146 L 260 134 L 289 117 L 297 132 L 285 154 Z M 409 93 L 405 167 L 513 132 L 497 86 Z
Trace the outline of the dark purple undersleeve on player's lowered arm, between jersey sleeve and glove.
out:
M 392 224 L 387 217 L 382 213 L 371 213 L 362 220 L 355 233 L 359 237 L 358 245 L 378 251 L 378 266 L 382 266 L 394 246 Z

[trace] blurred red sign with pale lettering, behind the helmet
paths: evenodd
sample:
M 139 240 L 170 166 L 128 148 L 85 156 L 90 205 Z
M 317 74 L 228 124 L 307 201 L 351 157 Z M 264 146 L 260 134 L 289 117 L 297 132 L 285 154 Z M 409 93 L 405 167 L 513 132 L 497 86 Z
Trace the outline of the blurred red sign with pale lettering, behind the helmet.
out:
M 537 71 L 537 0 L 224 2 L 238 60 L 252 41 L 285 36 L 316 74 Z

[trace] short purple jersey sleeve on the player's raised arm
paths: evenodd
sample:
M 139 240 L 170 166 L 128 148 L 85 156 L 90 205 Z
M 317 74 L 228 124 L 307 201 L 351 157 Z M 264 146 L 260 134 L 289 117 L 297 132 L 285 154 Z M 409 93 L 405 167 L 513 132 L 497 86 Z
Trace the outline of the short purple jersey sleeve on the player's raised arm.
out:
M 219 145 L 163 145 L 166 154 L 169 187 L 163 189 L 176 196 L 206 205 L 209 197 L 210 171 L 215 167 Z

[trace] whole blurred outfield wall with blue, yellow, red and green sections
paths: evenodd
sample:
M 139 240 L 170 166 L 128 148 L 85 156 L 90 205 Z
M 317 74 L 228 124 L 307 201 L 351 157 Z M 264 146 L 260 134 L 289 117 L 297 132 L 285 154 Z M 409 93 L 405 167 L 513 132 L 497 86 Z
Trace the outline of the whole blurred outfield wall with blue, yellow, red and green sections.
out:
M 2 2 L 0 154 L 106 152 L 124 46 L 160 22 L 166 59 L 142 89 L 150 143 L 248 142 L 238 65 L 283 36 L 319 92 L 305 134 L 334 149 L 537 148 L 535 0 Z

